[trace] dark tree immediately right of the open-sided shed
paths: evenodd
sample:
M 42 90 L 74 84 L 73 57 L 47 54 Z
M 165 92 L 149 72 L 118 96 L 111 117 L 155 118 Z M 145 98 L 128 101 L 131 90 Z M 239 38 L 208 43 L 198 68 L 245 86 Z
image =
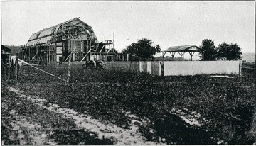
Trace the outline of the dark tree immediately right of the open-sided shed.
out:
M 213 40 L 202 40 L 201 48 L 204 50 L 204 54 L 202 52 L 199 52 L 199 57 L 201 58 L 201 60 L 216 60 L 217 50 L 215 48 Z

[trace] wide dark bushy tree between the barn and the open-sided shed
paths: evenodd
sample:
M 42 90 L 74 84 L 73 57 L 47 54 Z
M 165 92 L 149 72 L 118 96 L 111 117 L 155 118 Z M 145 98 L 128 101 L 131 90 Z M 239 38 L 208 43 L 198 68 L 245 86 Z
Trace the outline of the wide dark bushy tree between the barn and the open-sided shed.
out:
M 127 46 L 127 48 L 122 50 L 122 52 L 132 55 L 134 60 L 137 61 L 146 61 L 148 59 L 154 60 L 153 55 L 155 55 L 156 52 L 161 52 L 161 48 L 159 45 L 153 46 L 152 43 L 152 40 L 142 38 L 138 40 L 137 43 L 132 43 L 131 45 Z

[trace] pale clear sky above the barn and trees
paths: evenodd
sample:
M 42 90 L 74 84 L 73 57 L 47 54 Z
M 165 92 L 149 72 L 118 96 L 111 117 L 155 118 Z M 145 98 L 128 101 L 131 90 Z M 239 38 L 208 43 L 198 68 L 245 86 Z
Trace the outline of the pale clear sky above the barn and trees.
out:
M 80 17 L 101 42 L 121 52 L 140 38 L 161 50 L 203 39 L 255 52 L 255 1 L 1 1 L 1 44 L 24 45 L 32 33 Z

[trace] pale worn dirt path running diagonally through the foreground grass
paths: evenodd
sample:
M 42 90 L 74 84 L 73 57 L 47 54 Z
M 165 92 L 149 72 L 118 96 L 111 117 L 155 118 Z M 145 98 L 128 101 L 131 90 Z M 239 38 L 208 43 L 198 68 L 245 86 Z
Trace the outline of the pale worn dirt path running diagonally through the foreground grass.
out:
M 72 119 L 75 122 L 77 128 L 84 129 L 85 131 L 90 131 L 97 133 L 100 139 L 111 139 L 116 145 L 156 145 L 164 144 L 159 142 L 146 141 L 146 139 L 139 133 L 139 127 L 137 120 L 133 120 L 129 125 L 129 129 L 124 129 L 117 127 L 114 124 L 102 124 L 99 120 L 90 117 L 87 114 L 79 114 L 73 109 L 60 108 L 57 104 L 48 103 L 46 99 L 41 99 L 38 97 L 27 96 L 23 91 L 16 89 L 14 87 L 9 87 L 9 91 L 18 94 L 18 96 L 31 101 L 32 103 L 47 109 L 48 111 L 61 114 L 63 118 Z M 129 115 L 128 115 L 129 116 Z

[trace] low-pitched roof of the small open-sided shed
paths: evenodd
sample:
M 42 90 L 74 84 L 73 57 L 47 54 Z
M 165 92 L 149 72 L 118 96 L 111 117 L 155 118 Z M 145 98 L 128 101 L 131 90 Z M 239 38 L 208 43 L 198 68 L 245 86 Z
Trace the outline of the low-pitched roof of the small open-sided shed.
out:
M 201 52 L 202 49 L 196 45 L 181 45 L 181 46 L 174 46 L 169 47 L 162 52 Z

